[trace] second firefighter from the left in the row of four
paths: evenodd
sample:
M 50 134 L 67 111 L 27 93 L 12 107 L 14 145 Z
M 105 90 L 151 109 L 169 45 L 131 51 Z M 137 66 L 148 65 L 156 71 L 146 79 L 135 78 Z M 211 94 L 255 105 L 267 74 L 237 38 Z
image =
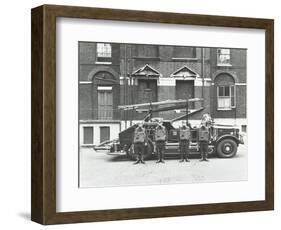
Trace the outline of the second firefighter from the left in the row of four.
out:
M 158 161 L 156 161 L 156 163 L 165 163 L 164 153 L 165 153 L 167 133 L 166 133 L 166 128 L 163 126 L 162 123 L 159 123 L 156 126 L 154 138 L 156 142 L 156 152 L 158 155 Z

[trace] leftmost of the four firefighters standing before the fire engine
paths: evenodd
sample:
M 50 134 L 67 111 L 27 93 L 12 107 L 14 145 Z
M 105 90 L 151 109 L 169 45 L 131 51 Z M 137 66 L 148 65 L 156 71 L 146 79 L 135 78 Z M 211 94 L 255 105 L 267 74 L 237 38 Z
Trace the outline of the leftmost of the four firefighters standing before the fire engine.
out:
M 137 155 L 137 161 L 134 164 L 145 164 L 144 162 L 144 152 L 146 143 L 146 133 L 145 128 L 142 124 L 139 124 L 134 133 L 134 152 Z

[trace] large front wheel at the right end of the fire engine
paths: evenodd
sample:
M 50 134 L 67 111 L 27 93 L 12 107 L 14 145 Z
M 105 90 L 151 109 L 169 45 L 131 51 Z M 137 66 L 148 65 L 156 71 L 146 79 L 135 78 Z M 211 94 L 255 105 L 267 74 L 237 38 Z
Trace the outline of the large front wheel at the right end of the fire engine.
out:
M 221 158 L 232 158 L 237 153 L 237 143 L 232 139 L 223 139 L 217 144 L 217 155 Z

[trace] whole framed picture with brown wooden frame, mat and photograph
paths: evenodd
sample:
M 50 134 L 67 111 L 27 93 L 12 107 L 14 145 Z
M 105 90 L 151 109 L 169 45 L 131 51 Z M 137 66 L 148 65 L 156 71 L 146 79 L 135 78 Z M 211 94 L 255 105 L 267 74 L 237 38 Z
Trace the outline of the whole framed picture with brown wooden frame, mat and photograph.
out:
M 32 9 L 31 219 L 273 210 L 274 21 Z

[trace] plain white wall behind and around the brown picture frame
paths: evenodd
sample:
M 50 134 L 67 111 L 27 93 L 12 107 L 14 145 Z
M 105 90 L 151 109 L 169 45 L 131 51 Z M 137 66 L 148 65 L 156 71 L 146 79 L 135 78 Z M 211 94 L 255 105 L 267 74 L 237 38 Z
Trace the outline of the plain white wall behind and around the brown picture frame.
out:
M 267 1 L 225 0 L 10 0 L 0 8 L 1 43 L 1 229 L 43 229 L 30 222 L 30 8 L 68 4 L 138 10 L 174 11 L 275 18 L 275 211 L 131 220 L 53 226 L 51 229 L 280 229 L 281 216 L 281 69 L 280 4 Z M 10 122 L 12 121 L 12 122 Z M 16 122 L 15 122 L 16 121 Z M 17 132 L 15 132 L 15 130 Z M 16 142 L 15 142 L 16 141 Z M 16 143 L 16 145 L 15 145 Z M 258 143 L 257 143 L 258 144 Z

